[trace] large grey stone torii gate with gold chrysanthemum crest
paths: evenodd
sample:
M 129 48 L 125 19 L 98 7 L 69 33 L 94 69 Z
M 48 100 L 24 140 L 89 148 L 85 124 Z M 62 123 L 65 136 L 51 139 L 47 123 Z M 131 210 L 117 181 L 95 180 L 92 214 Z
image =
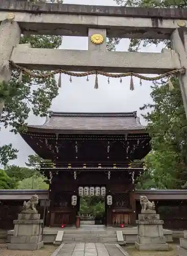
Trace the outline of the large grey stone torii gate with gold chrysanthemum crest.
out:
M 163 74 L 187 69 L 187 10 L 125 8 L 0 1 L 0 81 L 9 81 L 11 65 L 35 70 L 136 72 Z M 31 48 L 20 35 L 88 36 L 88 50 Z M 99 35 L 102 42 L 96 44 Z M 106 37 L 171 39 L 161 53 L 109 52 Z M 187 116 L 187 74 L 179 74 Z M 0 115 L 3 102 L 0 104 Z

